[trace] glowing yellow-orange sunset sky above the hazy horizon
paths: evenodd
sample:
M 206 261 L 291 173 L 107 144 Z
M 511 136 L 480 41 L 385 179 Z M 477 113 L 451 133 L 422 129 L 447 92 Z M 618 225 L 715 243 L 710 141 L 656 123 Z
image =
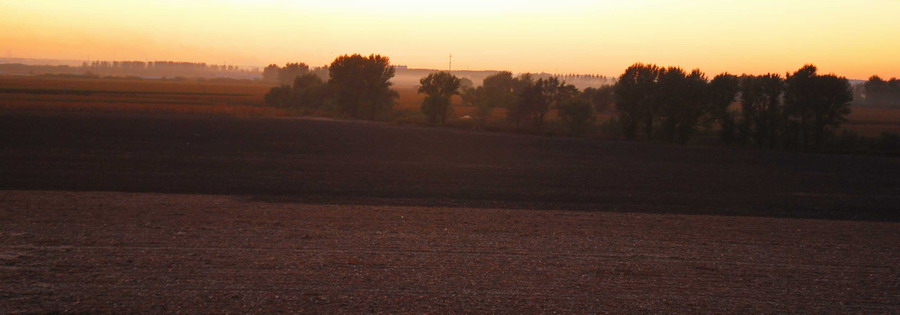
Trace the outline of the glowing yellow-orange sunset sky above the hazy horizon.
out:
M 0 0 L 0 57 L 900 77 L 900 0 Z

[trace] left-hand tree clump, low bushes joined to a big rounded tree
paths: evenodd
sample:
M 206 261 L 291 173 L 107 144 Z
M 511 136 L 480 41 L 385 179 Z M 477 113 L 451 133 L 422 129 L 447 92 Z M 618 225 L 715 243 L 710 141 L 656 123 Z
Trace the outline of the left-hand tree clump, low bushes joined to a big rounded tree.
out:
M 324 71 L 310 71 L 302 63 L 288 64 L 284 68 L 267 67 L 264 73 L 269 73 L 269 79 L 277 78 L 281 85 L 266 94 L 266 104 L 328 108 L 349 118 L 375 120 L 390 111 L 398 96 L 391 89 L 394 68 L 388 57 L 343 55 L 320 69 L 327 71 L 327 81 L 321 75 Z

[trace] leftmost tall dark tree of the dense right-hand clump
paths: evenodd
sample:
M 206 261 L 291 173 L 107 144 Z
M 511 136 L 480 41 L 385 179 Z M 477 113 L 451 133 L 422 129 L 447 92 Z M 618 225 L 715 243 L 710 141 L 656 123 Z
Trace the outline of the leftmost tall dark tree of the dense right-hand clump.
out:
M 616 109 L 622 134 L 628 139 L 637 137 L 638 129 L 644 127 L 649 139 L 659 110 L 654 99 L 660 73 L 663 69 L 656 65 L 636 63 L 625 69 L 614 87 Z

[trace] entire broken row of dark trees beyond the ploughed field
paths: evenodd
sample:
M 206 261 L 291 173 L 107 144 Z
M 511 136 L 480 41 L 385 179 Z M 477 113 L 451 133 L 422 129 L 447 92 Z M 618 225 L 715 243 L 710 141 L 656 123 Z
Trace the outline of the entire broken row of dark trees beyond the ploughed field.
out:
M 302 63 L 272 65 L 264 73 L 281 82 L 265 96 L 275 106 L 383 119 L 398 97 L 390 83 L 394 68 L 380 55 L 344 55 L 314 69 Z M 418 92 L 425 95 L 421 112 L 434 125 L 450 120 L 451 100 L 458 95 L 462 105 L 475 107 L 467 118 L 486 124 L 494 109 L 502 108 L 509 123 L 531 132 L 541 132 L 556 111 L 571 134 L 583 135 L 595 125 L 596 113 L 606 112 L 613 115 L 606 128 L 627 139 L 683 144 L 706 129 L 717 130 L 726 144 L 803 150 L 832 141 L 853 100 L 846 78 L 819 74 L 814 65 L 784 76 L 722 73 L 710 79 L 700 70 L 638 63 L 614 85 L 584 90 L 557 77 L 508 71 L 475 87 L 437 72 L 421 78 Z

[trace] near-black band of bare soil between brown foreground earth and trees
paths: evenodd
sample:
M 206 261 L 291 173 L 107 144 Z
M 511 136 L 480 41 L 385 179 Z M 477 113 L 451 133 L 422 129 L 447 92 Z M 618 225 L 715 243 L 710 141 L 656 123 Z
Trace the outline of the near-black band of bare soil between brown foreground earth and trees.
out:
M 0 189 L 900 220 L 900 159 L 372 122 L 0 115 Z

